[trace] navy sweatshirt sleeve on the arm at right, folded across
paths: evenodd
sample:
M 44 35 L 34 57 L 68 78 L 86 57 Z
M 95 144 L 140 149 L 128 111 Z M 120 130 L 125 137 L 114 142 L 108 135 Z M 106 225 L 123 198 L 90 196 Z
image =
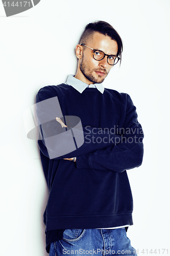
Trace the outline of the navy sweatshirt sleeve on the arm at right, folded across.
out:
M 116 140 L 114 145 L 77 157 L 77 169 L 113 170 L 122 173 L 140 166 L 143 158 L 143 132 L 137 121 L 136 108 L 128 94 L 124 131 L 122 138 Z

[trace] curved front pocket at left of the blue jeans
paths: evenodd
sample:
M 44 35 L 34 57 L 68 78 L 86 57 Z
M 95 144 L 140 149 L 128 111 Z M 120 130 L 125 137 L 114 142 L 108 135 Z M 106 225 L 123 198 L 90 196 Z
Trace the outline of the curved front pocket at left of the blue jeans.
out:
M 80 240 L 86 232 L 86 229 L 65 229 L 63 232 L 64 241 L 78 241 Z

